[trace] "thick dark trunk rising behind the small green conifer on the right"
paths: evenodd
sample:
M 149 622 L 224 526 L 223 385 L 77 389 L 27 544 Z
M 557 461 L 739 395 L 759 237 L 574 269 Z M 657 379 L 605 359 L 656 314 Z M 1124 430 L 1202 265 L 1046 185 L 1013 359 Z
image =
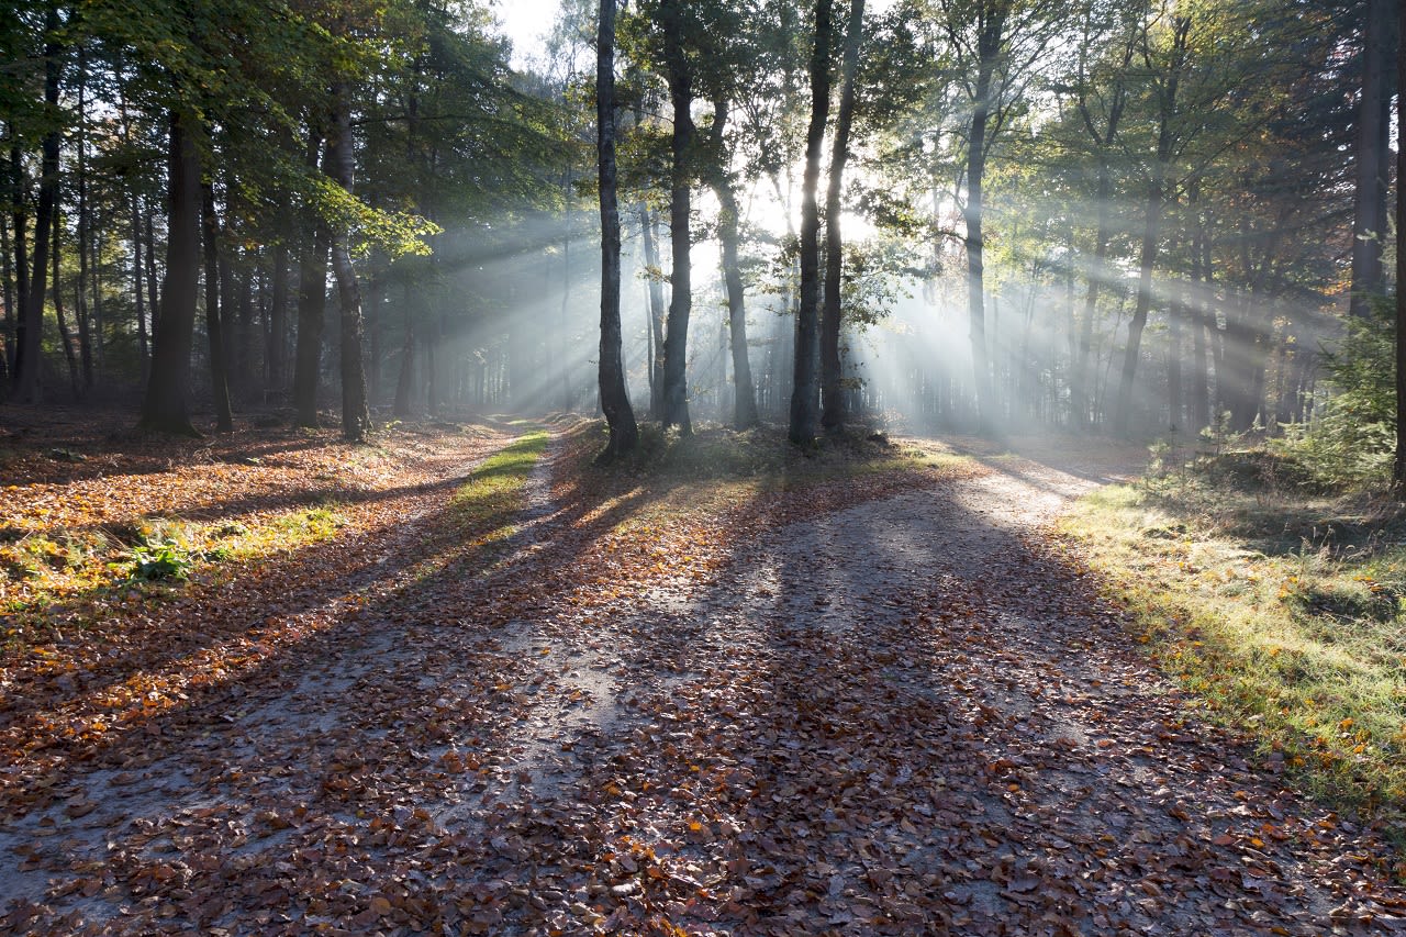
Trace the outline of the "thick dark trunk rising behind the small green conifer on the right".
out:
M 1348 310 L 1369 314 L 1381 295 L 1382 245 L 1386 241 L 1386 189 L 1391 131 L 1391 48 L 1399 3 L 1368 0 L 1362 31 L 1362 93 L 1357 110 L 1355 194 L 1353 201 L 1353 286 Z

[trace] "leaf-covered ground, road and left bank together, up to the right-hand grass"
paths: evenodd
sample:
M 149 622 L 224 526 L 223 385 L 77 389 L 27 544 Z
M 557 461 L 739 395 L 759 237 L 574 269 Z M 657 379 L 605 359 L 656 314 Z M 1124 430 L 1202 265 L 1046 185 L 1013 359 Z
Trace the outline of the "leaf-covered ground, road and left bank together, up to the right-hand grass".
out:
M 7 574 L 8 931 L 1406 927 L 1391 847 L 1199 722 L 1046 549 L 1136 453 L 179 446 L 10 456 L 8 546 L 114 542 L 107 578 Z

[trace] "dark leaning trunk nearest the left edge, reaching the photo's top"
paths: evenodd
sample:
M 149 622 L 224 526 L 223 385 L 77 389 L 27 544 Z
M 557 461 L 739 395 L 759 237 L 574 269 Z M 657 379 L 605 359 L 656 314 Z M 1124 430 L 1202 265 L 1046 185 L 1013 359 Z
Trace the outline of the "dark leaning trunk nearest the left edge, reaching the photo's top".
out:
M 21 311 L 11 400 L 30 404 L 39 398 L 39 371 L 44 367 L 41 336 L 44 333 L 44 295 L 49 264 L 49 235 L 59 198 L 59 7 L 51 3 L 44 17 L 44 110 L 52 128 L 39 145 L 39 204 L 34 215 L 34 276 L 30 280 L 28 302 Z

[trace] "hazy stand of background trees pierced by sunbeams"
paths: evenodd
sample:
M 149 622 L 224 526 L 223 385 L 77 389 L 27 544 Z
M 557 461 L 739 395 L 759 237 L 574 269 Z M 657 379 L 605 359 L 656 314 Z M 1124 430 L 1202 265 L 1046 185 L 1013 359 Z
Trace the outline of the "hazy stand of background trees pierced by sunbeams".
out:
M 11 10 L 8 398 L 349 438 L 598 411 L 599 3 L 551 11 L 515 69 L 472 1 Z M 624 4 L 626 402 L 799 442 L 1323 425 L 1324 353 L 1393 335 L 1398 31 L 1382 0 Z

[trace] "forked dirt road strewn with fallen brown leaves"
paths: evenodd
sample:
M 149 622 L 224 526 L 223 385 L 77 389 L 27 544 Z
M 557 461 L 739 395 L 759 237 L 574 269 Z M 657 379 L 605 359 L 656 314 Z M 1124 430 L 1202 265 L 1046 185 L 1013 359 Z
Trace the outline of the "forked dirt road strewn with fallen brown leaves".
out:
M 1386 847 L 1191 716 L 1039 549 L 1114 467 L 987 460 L 616 594 L 574 580 L 609 550 L 550 470 L 492 568 L 422 570 L 75 767 L 0 833 L 0 926 L 1406 930 Z

